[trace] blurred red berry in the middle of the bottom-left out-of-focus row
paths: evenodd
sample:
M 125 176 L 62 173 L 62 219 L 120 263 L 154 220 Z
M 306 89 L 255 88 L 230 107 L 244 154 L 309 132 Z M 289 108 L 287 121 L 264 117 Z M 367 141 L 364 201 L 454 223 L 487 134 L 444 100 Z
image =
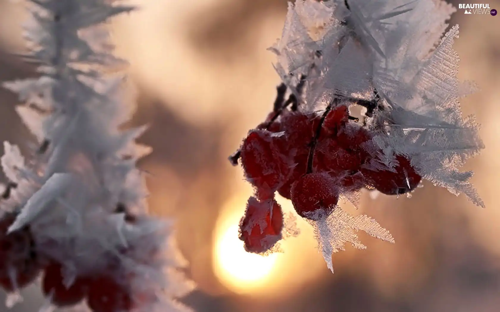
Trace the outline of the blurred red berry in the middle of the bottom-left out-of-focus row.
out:
M 77 277 L 69 288 L 64 285 L 62 266 L 53 263 L 45 268 L 42 290 L 45 296 L 51 295 L 51 302 L 57 307 L 72 306 L 83 300 L 87 294 L 89 280 Z

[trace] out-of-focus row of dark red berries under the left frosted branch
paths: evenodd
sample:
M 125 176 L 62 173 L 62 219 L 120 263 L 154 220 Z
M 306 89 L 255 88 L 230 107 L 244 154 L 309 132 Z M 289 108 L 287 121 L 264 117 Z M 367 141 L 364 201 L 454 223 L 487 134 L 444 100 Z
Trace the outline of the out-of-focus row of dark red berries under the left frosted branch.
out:
M 154 300 L 154 295 L 132 292 L 133 274 L 124 273 L 115 255 L 109 255 L 105 268 L 68 281 L 63 264 L 37 250 L 29 226 L 7 232 L 15 217 L 8 213 L 0 220 L 0 286 L 5 291 L 28 286 L 43 272 L 43 294 L 56 307 L 74 306 L 86 299 L 93 312 L 126 312 Z M 136 218 L 127 214 L 125 221 L 135 222 Z M 126 256 L 132 249 L 128 246 L 121 253 Z

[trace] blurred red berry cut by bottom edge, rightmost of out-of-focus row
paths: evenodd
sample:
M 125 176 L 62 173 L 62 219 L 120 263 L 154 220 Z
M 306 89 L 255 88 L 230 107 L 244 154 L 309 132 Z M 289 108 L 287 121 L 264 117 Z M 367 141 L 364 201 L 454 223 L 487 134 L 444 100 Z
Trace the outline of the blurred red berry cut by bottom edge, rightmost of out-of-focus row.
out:
M 130 291 L 111 276 L 92 279 L 87 304 L 93 312 L 126 312 L 133 308 Z

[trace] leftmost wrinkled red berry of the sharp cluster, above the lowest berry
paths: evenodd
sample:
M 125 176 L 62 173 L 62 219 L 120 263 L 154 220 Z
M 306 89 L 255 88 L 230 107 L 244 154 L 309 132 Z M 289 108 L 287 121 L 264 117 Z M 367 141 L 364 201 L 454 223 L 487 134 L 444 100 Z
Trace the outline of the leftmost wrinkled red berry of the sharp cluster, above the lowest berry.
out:
M 241 146 L 241 165 L 261 199 L 271 198 L 289 175 L 291 163 L 278 149 L 281 140 L 270 131 L 253 130 Z

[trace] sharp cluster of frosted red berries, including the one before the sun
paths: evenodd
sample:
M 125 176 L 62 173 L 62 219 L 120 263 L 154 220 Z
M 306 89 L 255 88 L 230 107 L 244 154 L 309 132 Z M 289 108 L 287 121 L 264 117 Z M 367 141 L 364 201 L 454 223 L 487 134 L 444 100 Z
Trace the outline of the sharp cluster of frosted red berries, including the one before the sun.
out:
M 407 157 L 392 155 L 397 164 L 384 164 L 382 151 L 371 141 L 374 131 L 349 116 L 348 102 L 337 98 L 322 114 L 275 105 L 231 156 L 233 164 L 241 158 L 255 188 L 240 222 L 248 252 L 266 252 L 281 239 L 283 214 L 274 200 L 276 191 L 291 200 L 300 217 L 314 221 L 331 214 L 341 194 L 369 187 L 397 195 L 419 184 L 421 177 Z

